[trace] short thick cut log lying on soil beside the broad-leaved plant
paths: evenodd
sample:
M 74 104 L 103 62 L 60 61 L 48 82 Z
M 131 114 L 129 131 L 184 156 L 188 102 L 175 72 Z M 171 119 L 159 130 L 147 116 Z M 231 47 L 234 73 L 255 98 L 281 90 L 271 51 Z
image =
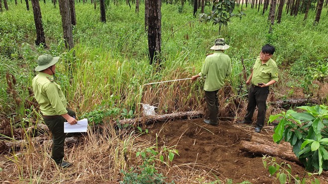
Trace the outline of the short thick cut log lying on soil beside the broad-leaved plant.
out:
M 261 144 L 258 142 L 250 142 L 250 141 L 241 141 L 242 151 L 247 151 L 254 153 L 256 155 L 269 155 L 272 157 L 279 157 L 288 161 L 292 161 L 298 164 L 301 162 L 298 160 L 296 155 L 290 151 L 290 148 L 280 147 L 280 146 L 269 146 L 266 144 Z

